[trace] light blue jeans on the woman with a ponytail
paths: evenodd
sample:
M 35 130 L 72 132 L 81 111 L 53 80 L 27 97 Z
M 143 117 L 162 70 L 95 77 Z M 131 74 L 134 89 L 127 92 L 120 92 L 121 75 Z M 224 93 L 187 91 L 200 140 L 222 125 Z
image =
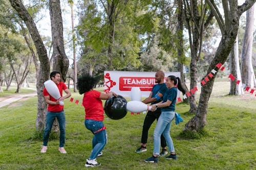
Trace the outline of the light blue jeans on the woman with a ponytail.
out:
M 170 137 L 170 124 L 175 116 L 175 111 L 163 111 L 158 118 L 156 128 L 154 130 L 154 153 L 160 155 L 160 136 L 163 134 L 170 152 L 175 152 L 173 140 Z

